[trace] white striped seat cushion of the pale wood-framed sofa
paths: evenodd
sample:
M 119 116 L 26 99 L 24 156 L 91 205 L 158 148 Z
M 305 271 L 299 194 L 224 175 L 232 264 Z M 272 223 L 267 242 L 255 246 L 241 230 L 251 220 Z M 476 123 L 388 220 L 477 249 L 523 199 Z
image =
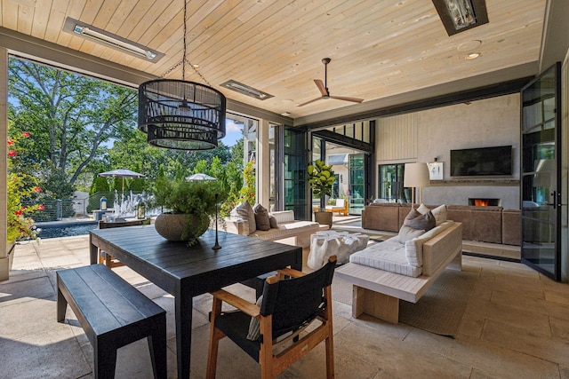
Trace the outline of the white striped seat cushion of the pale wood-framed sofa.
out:
M 397 236 L 349 256 L 349 261 L 358 265 L 366 265 L 380 270 L 400 273 L 413 278 L 421 275 L 422 267 L 409 265 L 405 257 L 405 246 L 397 241 Z

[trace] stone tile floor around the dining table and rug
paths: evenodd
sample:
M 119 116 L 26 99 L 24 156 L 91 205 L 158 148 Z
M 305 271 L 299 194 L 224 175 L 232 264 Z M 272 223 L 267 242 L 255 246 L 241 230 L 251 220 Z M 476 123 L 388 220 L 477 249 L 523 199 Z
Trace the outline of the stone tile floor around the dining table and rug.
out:
M 55 271 L 89 264 L 88 237 L 66 237 L 16 248 L 10 280 L 0 282 L 0 378 L 92 377 L 92 347 L 68 310 L 55 321 Z M 525 265 L 463 257 L 477 283 L 455 339 L 371 317 L 353 319 L 334 301 L 338 378 L 569 378 L 569 286 Z M 127 267 L 115 269 L 168 312 L 168 372 L 176 375 L 173 299 Z M 347 283 L 333 286 L 346 291 Z M 253 298 L 241 285 L 231 286 Z M 349 290 L 349 288 L 348 288 Z M 340 296 L 338 297 L 340 299 Z M 192 378 L 203 378 L 211 297 L 194 301 Z M 121 348 L 116 377 L 152 376 L 147 343 Z M 257 364 L 228 341 L 220 345 L 219 378 L 260 377 Z M 325 377 L 324 346 L 281 378 Z

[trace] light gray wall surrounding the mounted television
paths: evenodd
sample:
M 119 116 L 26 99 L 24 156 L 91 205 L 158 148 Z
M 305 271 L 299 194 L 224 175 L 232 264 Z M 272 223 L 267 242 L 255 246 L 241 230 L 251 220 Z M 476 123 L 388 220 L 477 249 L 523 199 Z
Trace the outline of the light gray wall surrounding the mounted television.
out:
M 468 205 L 469 198 L 500 199 L 505 209 L 519 209 L 519 94 L 492 99 L 472 101 L 439 107 L 405 117 L 395 116 L 391 120 L 378 120 L 379 129 L 390 131 L 391 141 L 378 140 L 377 146 L 386 148 L 402 141 L 414 144 L 416 149 L 408 149 L 413 154 L 397 156 L 392 162 L 438 162 L 444 164 L 444 180 L 432 181 L 432 186 L 423 188 L 422 201 L 425 204 Z M 395 122 L 394 122 L 395 121 Z M 399 123 L 405 133 L 397 133 L 394 125 Z M 411 125 L 412 130 L 409 130 Z M 397 128 L 399 128 L 397 127 Z M 378 138 L 381 130 L 378 132 Z M 413 138 L 414 137 L 414 138 Z M 385 135 L 383 135 L 385 138 Z M 513 175 L 511 177 L 455 178 L 450 176 L 450 151 L 462 148 L 485 146 L 513 146 Z M 397 149 L 401 152 L 401 149 Z M 381 154 L 378 153 L 381 156 Z M 416 156 L 412 156 L 416 155 Z M 388 159 L 378 159 L 378 164 L 389 163 Z

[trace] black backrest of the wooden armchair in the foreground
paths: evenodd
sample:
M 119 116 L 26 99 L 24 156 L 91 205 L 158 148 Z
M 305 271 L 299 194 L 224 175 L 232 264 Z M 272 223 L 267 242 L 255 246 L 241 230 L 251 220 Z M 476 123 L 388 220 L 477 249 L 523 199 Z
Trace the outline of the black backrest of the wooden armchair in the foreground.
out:
M 325 310 L 324 288 L 332 284 L 336 261 L 300 278 L 265 282 L 260 314 L 273 316 L 273 338 L 296 330 Z

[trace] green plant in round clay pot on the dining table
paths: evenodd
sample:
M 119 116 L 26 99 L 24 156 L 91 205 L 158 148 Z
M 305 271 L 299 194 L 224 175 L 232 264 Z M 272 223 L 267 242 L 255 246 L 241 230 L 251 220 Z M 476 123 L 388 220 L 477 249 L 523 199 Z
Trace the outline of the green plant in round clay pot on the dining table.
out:
M 222 201 L 222 193 L 216 180 L 168 180 L 156 181 L 155 201 L 169 209 L 156 217 L 156 232 L 168 241 L 196 243 L 205 233 L 216 212 L 216 202 Z

